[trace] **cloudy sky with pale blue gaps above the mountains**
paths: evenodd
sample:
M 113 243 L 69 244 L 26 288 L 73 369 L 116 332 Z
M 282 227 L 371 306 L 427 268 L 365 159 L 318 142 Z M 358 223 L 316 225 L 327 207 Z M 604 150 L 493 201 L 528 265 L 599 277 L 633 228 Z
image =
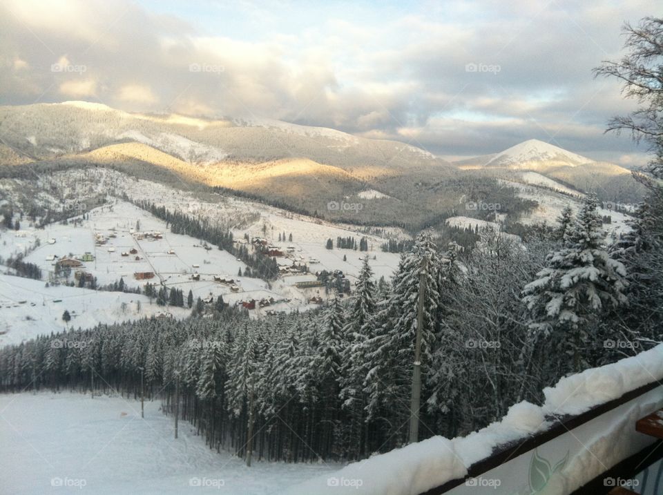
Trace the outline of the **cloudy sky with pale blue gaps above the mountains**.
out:
M 646 161 L 591 69 L 654 0 L 0 0 L 0 104 L 269 117 L 445 157 L 541 139 Z

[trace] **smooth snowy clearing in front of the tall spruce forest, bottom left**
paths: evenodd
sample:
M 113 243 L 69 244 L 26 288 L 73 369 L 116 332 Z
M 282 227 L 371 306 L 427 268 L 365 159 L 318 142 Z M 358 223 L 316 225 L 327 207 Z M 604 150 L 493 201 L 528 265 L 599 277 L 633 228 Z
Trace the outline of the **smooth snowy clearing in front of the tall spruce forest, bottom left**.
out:
M 54 494 L 278 494 L 336 464 L 256 460 L 217 454 L 160 402 L 82 394 L 0 395 L 0 492 Z M 303 495 L 303 494 L 302 494 Z

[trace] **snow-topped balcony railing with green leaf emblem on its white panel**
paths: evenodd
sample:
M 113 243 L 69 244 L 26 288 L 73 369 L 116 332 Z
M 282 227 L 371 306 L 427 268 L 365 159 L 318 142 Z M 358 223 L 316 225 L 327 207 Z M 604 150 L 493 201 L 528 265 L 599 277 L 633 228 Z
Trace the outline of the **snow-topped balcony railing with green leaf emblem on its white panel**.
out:
M 569 494 L 655 441 L 635 431 L 635 423 L 663 407 L 659 380 L 663 344 L 562 378 L 544 389 L 544 405 L 520 402 L 468 436 L 434 436 L 287 493 Z

